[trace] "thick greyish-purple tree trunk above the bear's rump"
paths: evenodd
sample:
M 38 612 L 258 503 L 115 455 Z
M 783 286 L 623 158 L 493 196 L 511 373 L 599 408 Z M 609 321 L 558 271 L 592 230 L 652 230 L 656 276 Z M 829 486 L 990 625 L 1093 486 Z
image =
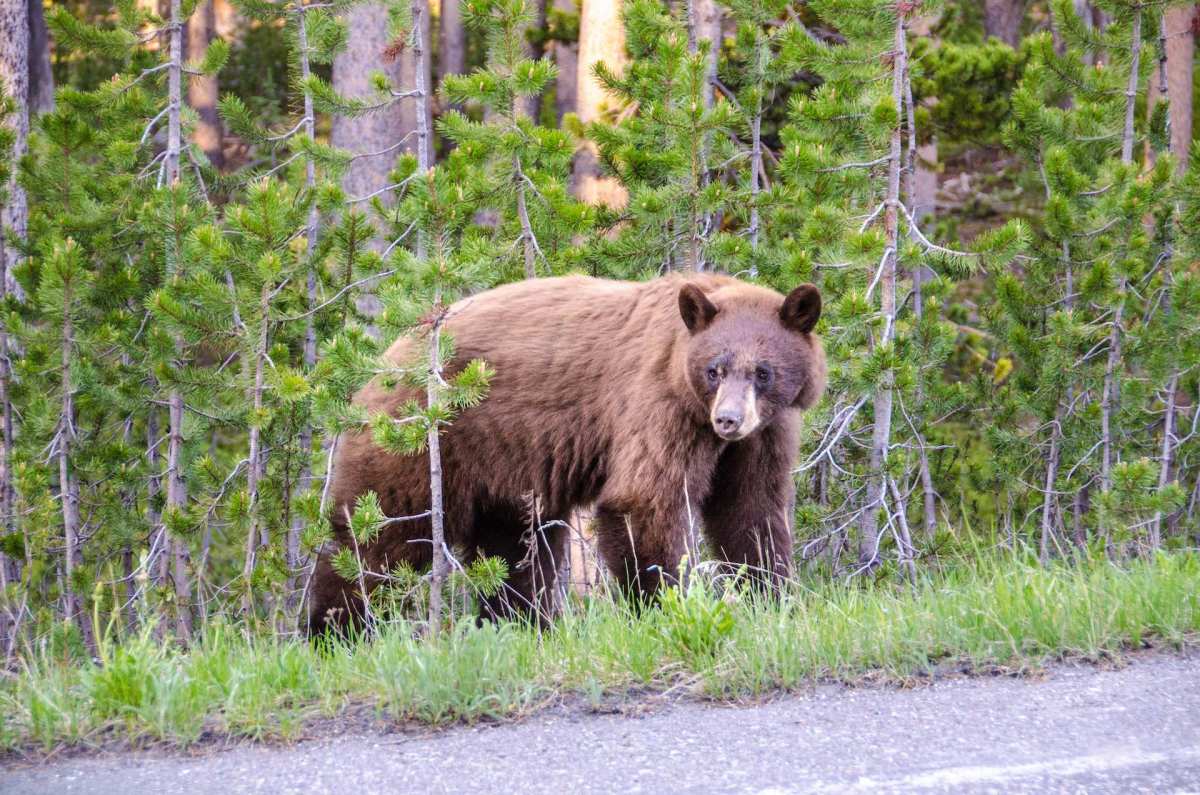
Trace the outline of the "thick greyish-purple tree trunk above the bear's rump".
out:
M 346 19 L 349 40 L 346 49 L 334 59 L 334 89 L 348 97 L 371 96 L 371 72 L 382 71 L 398 90 L 412 90 L 416 85 L 413 48 L 404 47 L 395 60 L 385 58 L 385 50 L 391 44 L 388 38 L 388 7 L 377 2 L 354 6 Z M 427 49 L 427 19 L 421 30 L 422 48 Z M 424 79 L 428 85 L 428 64 L 425 68 Z M 416 151 L 416 103 L 400 101 L 355 119 L 334 116 L 330 143 L 355 154 L 383 151 L 409 136 L 401 149 L 352 162 L 342 178 L 342 187 L 349 196 L 366 196 L 385 187 L 396 156 L 401 151 Z

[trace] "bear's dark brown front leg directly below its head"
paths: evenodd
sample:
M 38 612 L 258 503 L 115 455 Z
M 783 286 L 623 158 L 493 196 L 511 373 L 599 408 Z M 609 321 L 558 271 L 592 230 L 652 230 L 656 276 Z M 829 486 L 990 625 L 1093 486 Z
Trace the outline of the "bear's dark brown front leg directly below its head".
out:
M 776 586 L 792 572 L 798 422 L 780 417 L 725 448 L 701 512 L 704 539 L 718 558 L 746 566 L 756 580 Z

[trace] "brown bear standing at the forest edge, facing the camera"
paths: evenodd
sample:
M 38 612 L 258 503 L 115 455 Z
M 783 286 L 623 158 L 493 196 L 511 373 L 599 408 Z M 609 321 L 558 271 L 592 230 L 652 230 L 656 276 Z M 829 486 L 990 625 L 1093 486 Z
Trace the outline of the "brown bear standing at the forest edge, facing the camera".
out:
M 540 614 L 581 508 L 594 512 L 599 556 L 631 594 L 677 580 L 697 525 L 721 561 L 786 578 L 799 416 L 826 382 L 820 316 L 812 285 L 785 297 L 718 274 L 535 279 L 454 304 L 448 372 L 474 359 L 493 371 L 487 396 L 440 443 L 448 545 L 463 564 L 508 563 L 481 617 Z M 406 335 L 385 355 L 412 365 L 426 345 Z M 376 379 L 354 400 L 396 416 L 414 398 L 416 388 Z M 336 544 L 352 543 L 348 519 L 366 491 L 396 520 L 356 549 L 361 582 L 334 570 L 330 550 L 318 556 L 310 634 L 359 623 L 360 585 L 370 591 L 378 573 L 431 562 L 428 455 L 390 454 L 366 429 L 343 432 L 334 453 Z

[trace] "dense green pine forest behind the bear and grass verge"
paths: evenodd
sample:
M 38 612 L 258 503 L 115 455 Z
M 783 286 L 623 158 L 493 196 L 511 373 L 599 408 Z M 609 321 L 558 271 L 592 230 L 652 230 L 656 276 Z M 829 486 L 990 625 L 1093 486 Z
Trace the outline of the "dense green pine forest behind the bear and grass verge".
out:
M 487 382 L 442 377 L 444 307 L 565 273 L 820 286 L 802 575 L 1187 555 L 1196 25 L 1126 0 L 0 1 L 6 659 L 294 632 L 337 434 L 436 450 Z M 407 373 L 379 358 L 398 333 L 431 340 Z M 374 376 L 428 400 L 366 417 Z M 354 532 L 388 520 L 364 501 Z M 386 573 L 396 610 L 503 587 L 446 554 Z

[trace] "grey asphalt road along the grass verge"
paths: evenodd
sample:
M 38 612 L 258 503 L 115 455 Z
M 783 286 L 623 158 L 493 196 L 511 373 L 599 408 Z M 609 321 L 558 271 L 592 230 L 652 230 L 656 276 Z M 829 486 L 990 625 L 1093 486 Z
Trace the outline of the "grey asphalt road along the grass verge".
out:
M 1200 793 L 1200 656 L 0 769 L 4 793 Z

